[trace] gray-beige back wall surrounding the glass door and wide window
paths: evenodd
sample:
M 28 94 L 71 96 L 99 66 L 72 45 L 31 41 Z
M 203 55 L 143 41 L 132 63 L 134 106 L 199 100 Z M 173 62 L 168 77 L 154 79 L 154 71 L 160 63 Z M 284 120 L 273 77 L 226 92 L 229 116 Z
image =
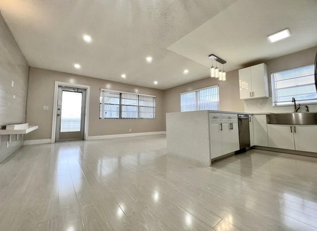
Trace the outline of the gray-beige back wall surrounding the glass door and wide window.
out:
M 90 86 L 89 136 L 125 134 L 129 128 L 131 133 L 165 131 L 162 90 L 30 67 L 27 122 L 39 125 L 39 129 L 27 134 L 25 140 L 51 139 L 55 81 Z M 156 119 L 99 119 L 100 88 L 155 95 Z M 43 110 L 44 105 L 49 106 L 48 111 Z

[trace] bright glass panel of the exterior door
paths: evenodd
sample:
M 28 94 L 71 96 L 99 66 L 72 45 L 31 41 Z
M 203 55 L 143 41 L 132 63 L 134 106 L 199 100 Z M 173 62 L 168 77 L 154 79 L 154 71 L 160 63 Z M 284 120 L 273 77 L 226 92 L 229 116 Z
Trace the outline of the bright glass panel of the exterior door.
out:
M 80 131 L 81 127 L 81 92 L 62 91 L 60 132 Z

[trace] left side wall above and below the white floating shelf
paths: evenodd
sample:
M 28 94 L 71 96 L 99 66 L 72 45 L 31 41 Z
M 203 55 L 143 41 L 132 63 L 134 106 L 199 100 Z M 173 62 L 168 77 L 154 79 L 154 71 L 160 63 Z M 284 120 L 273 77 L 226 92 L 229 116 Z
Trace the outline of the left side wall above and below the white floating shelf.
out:
M 2 128 L 5 128 L 6 124 L 25 122 L 28 71 L 29 65 L 0 14 L 0 126 Z M 16 135 L 12 135 L 11 143 L 7 148 L 8 139 L 8 135 L 1 135 L 0 162 L 23 145 L 23 137 L 16 140 Z

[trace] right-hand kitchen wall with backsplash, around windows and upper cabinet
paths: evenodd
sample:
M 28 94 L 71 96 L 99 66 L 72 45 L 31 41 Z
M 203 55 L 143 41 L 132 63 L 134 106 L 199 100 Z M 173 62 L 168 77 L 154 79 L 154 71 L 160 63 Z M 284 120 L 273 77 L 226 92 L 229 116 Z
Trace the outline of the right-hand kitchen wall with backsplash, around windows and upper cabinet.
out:
M 215 84 L 219 85 L 219 108 L 221 111 L 249 112 L 249 113 L 278 113 L 292 112 L 293 106 L 273 107 L 270 74 L 272 72 L 290 69 L 298 66 L 314 63 L 317 47 L 290 55 L 273 58 L 257 63 L 249 63 L 248 66 L 264 62 L 267 65 L 269 98 L 255 100 L 240 100 L 239 73 L 238 70 L 227 72 L 227 81 L 218 81 L 215 78 L 204 78 L 198 81 L 186 83 L 177 87 L 164 90 L 165 113 L 180 112 L 180 93 L 194 89 L 204 88 Z M 259 107 L 259 102 L 263 106 Z M 309 105 L 311 112 L 317 112 L 317 104 Z M 302 112 L 305 107 L 301 107 Z

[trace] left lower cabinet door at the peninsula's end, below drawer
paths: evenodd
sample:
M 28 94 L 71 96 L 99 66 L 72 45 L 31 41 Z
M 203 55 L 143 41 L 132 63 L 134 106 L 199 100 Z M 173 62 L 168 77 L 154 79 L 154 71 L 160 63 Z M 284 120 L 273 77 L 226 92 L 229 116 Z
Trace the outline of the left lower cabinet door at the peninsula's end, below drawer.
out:
M 220 122 L 210 122 L 211 159 L 222 156 Z

